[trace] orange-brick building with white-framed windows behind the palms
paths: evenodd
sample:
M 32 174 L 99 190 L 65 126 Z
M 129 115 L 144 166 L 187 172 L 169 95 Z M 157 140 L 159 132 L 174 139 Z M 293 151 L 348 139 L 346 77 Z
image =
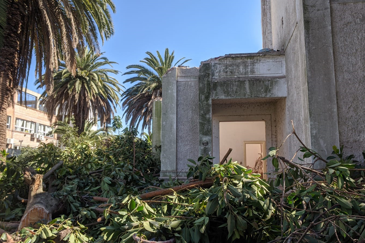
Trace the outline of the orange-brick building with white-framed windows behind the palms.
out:
M 7 152 L 9 155 L 20 153 L 24 146 L 38 147 L 40 142 L 57 143 L 57 134 L 49 134 L 51 125 L 44 105 L 41 104 L 41 94 L 25 89 L 14 94 L 14 105 L 7 110 Z M 22 101 L 20 100 L 22 99 Z M 57 111 L 54 111 L 57 114 Z

